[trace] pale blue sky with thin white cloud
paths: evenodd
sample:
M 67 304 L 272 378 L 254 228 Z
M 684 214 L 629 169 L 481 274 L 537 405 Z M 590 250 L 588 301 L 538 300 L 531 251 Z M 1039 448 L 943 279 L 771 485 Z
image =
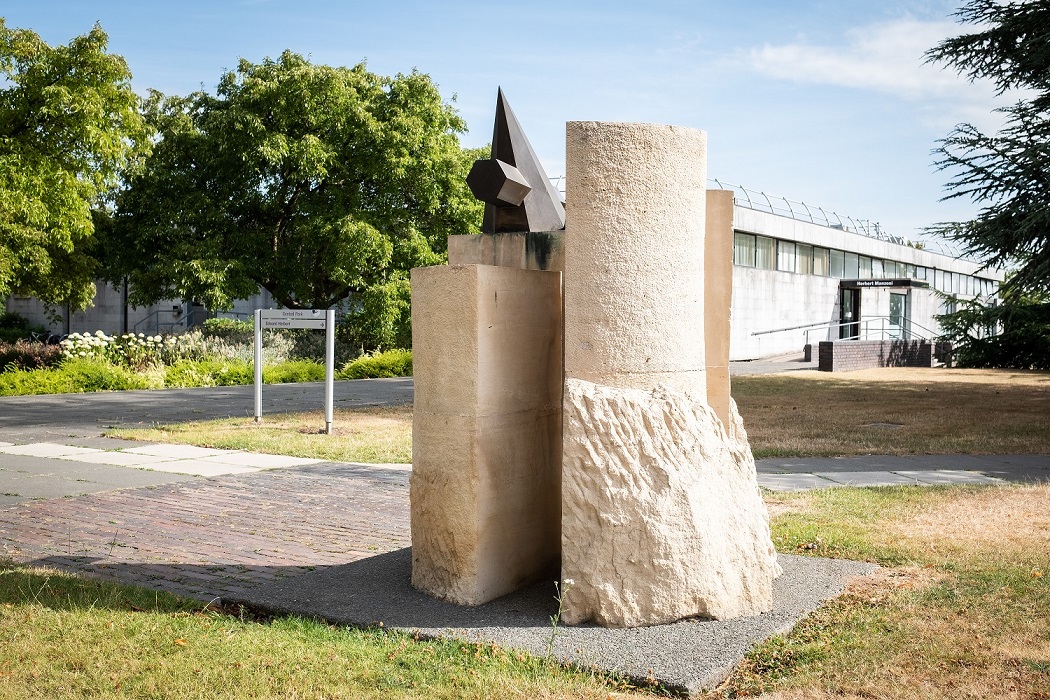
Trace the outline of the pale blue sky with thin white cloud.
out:
M 65 43 L 94 22 L 135 88 L 213 90 L 240 58 L 286 48 L 314 62 L 429 73 L 488 143 L 502 85 L 548 174 L 565 122 L 657 122 L 708 131 L 709 175 L 880 221 L 912 238 L 969 218 L 941 203 L 930 151 L 959 122 L 998 124 L 987 85 L 924 66 L 958 34 L 959 1 L 387 2 L 24 1 L 8 26 Z

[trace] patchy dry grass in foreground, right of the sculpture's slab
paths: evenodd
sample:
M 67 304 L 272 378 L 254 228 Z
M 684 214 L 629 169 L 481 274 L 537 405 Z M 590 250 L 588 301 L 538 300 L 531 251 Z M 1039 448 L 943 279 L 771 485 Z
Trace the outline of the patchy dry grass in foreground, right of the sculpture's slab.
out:
M 774 519 L 778 550 L 884 568 L 710 695 L 1050 700 L 1048 499 L 1048 486 L 778 494 L 796 506 Z

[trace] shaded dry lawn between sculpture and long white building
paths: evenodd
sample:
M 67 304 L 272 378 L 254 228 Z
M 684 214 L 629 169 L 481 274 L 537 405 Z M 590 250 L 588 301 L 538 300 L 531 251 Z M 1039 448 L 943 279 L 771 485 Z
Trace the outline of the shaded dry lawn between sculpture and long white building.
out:
M 1050 453 L 1050 373 L 886 368 L 736 377 L 755 457 Z

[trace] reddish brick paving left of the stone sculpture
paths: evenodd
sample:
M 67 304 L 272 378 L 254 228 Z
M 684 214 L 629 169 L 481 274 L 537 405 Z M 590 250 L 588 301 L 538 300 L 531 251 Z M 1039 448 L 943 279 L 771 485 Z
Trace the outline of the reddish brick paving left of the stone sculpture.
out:
M 410 544 L 408 472 L 348 464 L 0 509 L 0 556 L 204 600 Z

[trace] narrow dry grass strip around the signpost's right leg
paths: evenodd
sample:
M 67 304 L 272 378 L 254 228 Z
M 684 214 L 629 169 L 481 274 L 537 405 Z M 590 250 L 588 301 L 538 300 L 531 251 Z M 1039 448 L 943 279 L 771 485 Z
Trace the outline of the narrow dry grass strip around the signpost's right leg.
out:
M 321 411 L 175 423 L 154 428 L 114 429 L 127 440 L 244 449 L 332 462 L 412 462 L 412 406 L 342 408 L 333 416 L 333 434 L 320 432 Z

